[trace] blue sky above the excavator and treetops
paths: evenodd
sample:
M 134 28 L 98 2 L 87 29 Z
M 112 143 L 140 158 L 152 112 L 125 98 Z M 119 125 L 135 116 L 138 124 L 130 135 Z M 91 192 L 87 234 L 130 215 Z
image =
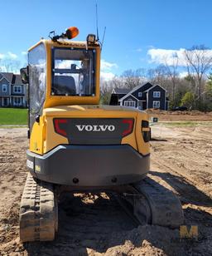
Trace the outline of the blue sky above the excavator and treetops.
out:
M 95 33 L 95 0 L 7 0 L 1 2 L 0 58 L 25 62 L 23 52 L 50 31 L 80 29 L 77 40 Z M 210 0 L 98 0 L 99 35 L 107 27 L 103 73 L 160 64 L 164 50 L 212 47 Z M 152 51 L 152 49 L 154 51 Z M 161 52 L 163 50 L 163 52 Z

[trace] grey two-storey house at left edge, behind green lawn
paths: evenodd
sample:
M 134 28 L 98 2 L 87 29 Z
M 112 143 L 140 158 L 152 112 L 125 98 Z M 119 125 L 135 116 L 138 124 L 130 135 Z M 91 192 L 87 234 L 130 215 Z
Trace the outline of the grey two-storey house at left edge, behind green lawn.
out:
M 20 75 L 0 72 L 0 107 L 27 107 L 26 94 Z

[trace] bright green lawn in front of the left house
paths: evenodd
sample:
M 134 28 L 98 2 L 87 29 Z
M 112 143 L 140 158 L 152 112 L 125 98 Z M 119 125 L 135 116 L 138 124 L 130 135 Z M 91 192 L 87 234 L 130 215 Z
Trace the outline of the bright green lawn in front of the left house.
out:
M 0 126 L 27 126 L 27 109 L 0 108 Z

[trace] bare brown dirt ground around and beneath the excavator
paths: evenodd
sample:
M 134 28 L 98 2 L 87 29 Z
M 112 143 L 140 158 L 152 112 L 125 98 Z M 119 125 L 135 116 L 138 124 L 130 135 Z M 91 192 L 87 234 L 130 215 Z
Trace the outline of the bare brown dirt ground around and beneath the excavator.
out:
M 152 137 L 149 175 L 179 196 L 185 225 L 198 226 L 198 239 L 180 239 L 178 229 L 137 226 L 110 194 L 67 194 L 60 201 L 55 241 L 20 243 L 27 129 L 0 129 L 0 255 L 211 255 L 212 125 L 158 123 Z

